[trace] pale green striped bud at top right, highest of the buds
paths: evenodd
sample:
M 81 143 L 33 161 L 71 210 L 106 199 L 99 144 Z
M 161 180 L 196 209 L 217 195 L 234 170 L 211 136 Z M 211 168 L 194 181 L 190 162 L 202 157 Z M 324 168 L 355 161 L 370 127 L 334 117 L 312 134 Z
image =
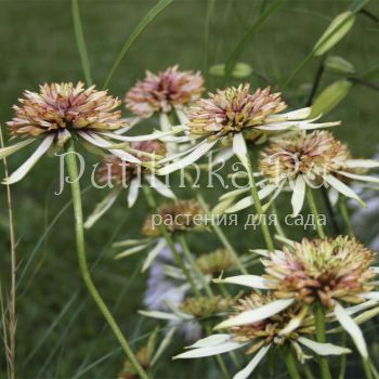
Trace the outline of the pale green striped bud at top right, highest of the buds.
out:
M 334 48 L 353 27 L 354 22 L 355 14 L 353 12 L 348 11 L 339 14 L 314 45 L 313 55 L 324 55 Z

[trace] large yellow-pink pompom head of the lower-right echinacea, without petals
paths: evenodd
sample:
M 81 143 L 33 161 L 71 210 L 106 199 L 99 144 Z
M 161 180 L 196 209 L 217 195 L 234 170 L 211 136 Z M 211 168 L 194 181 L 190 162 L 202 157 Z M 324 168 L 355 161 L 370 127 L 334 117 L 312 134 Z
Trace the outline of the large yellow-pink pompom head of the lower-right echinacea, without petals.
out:
M 309 304 L 318 300 L 330 308 L 336 301 L 360 303 L 362 293 L 375 287 L 374 259 L 375 253 L 354 238 L 304 238 L 293 245 L 293 252 L 285 247 L 280 253 L 271 253 L 264 261 L 264 277 L 279 299 Z

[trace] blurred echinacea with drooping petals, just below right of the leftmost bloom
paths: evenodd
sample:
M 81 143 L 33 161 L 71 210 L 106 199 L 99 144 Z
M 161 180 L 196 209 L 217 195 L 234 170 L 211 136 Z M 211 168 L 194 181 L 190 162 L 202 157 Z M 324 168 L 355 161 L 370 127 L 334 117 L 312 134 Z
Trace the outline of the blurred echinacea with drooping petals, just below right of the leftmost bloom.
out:
M 139 156 L 142 162 L 149 159 L 158 159 L 166 155 L 165 144 L 157 140 L 132 142 L 130 149 L 135 152 L 135 155 Z M 103 159 L 96 173 L 99 183 L 103 186 L 108 185 L 113 190 L 97 204 L 92 214 L 86 221 L 84 227 L 91 227 L 114 205 L 123 188 L 129 190 L 128 207 L 133 207 L 143 179 L 160 195 L 171 199 L 175 198 L 173 192 L 153 175 L 147 167 L 126 161 L 114 155 L 106 156 Z

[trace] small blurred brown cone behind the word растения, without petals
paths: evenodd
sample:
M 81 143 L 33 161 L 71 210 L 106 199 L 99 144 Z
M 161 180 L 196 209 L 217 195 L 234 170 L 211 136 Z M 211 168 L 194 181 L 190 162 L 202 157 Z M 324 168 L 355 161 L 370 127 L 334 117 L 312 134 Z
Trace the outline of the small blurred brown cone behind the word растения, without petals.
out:
M 200 224 L 204 211 L 195 200 L 179 200 L 178 202 L 165 202 L 158 208 L 160 220 L 155 214 L 146 218 L 142 227 L 142 234 L 146 236 L 159 236 L 159 226 L 155 223 L 161 222 L 172 232 L 184 232 Z

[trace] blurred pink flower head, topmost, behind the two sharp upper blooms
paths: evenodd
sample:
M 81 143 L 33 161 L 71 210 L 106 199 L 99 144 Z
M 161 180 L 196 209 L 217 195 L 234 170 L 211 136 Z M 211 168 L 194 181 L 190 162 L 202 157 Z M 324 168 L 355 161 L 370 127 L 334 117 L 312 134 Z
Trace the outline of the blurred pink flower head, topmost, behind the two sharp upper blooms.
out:
M 180 71 L 177 65 L 158 75 L 146 71 L 145 79 L 136 82 L 125 101 L 129 110 L 146 118 L 155 112 L 169 113 L 200 97 L 202 86 L 200 73 Z

